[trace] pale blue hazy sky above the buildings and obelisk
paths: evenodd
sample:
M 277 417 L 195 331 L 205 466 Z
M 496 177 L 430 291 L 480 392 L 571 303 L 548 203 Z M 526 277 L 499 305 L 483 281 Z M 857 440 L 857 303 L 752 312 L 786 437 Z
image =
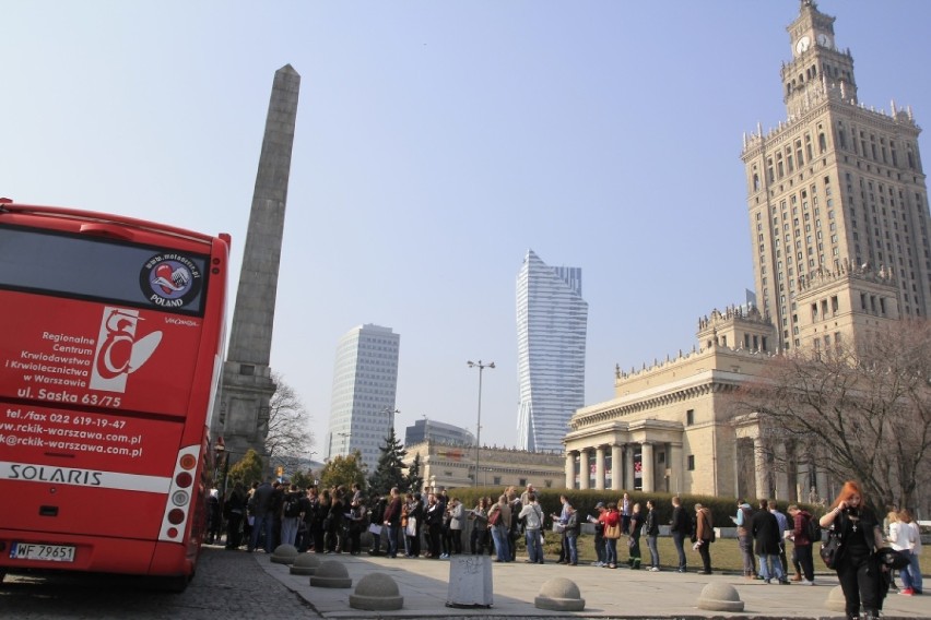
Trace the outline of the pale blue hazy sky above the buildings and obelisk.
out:
M 860 100 L 931 122 L 931 2 L 822 0 Z M 229 233 L 302 75 L 272 368 L 322 452 L 339 337 L 401 334 L 403 428 L 512 445 L 516 278 L 582 267 L 586 403 L 753 287 L 742 135 L 786 119 L 799 0 L 0 0 L 0 195 Z M 931 153 L 921 138 L 926 156 Z M 232 314 L 232 305 L 231 305 Z

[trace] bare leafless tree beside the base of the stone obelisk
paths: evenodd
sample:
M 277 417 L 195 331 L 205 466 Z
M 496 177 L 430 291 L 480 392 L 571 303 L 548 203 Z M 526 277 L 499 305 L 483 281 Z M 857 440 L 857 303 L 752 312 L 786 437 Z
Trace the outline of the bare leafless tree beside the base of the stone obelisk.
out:
M 310 417 L 300 397 L 283 377 L 272 373 L 272 380 L 278 388 L 269 402 L 266 453 L 269 463 L 279 463 L 293 473 L 298 470 L 300 458 L 309 456 L 314 445 Z

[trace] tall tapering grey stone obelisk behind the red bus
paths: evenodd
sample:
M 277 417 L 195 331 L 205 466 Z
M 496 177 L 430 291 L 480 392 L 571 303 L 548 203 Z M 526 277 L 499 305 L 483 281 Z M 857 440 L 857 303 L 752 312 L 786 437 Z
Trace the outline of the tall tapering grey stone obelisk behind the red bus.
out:
M 212 436 L 223 437 L 229 464 L 250 448 L 264 454 L 269 401 L 275 390 L 269 357 L 299 88 L 300 75 L 290 64 L 275 71 L 223 381 L 211 424 Z

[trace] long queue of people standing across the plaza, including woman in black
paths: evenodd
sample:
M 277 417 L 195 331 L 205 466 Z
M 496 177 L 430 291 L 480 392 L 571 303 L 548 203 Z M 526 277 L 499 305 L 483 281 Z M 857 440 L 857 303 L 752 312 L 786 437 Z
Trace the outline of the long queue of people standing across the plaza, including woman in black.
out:
M 557 563 L 578 565 L 581 524 L 594 529 L 593 565 L 616 569 L 622 561 L 618 541 L 626 546 L 626 564 L 633 570 L 660 570 L 657 545 L 660 526 L 653 500 L 631 500 L 627 493 L 616 501 L 598 502 L 596 514 L 580 517 L 567 496 L 561 496 L 561 510 L 551 513 L 559 533 Z M 694 513 L 671 498 L 669 530 L 676 552 L 675 570 L 686 572 L 686 539 L 702 561 L 700 574 L 711 574 L 710 549 L 716 540 L 711 511 L 700 503 Z M 221 509 L 222 505 L 222 509 Z M 921 537 L 918 524 L 907 510 L 891 511 L 885 523 L 867 506 L 855 481 L 845 482 L 829 510 L 815 518 L 792 504 L 782 513 L 774 500 L 759 500 L 756 506 L 738 502 L 731 520 L 736 526 L 738 546 L 743 558 L 743 575 L 767 584 L 814 585 L 814 555 L 821 542 L 821 528 L 842 541 L 836 572 L 842 588 L 848 618 L 877 618 L 891 589 L 911 596 L 922 593 Z M 497 498 L 481 498 L 466 509 L 446 489 L 402 493 L 398 488 L 385 497 L 364 498 L 358 485 L 350 489 L 316 487 L 302 490 L 272 479 L 250 489 L 236 482 L 223 502 L 215 489 L 208 498 L 205 541 L 220 544 L 225 522 L 225 548 L 272 552 L 278 545 L 293 545 L 299 552 L 358 555 L 363 532 L 372 534 L 368 552 L 397 558 L 448 559 L 463 552 L 462 533 L 471 523 L 468 545 L 472 555 L 487 553 L 496 562 L 517 559 L 517 541 L 523 537 L 528 563 L 544 563 L 545 516 L 533 485 L 518 494 L 508 487 Z M 817 525 L 817 527 L 815 527 Z M 649 563 L 644 563 L 646 542 Z M 792 549 L 787 553 L 787 545 Z M 884 562 L 882 552 L 893 549 L 901 567 L 901 588 L 895 584 L 895 568 Z

